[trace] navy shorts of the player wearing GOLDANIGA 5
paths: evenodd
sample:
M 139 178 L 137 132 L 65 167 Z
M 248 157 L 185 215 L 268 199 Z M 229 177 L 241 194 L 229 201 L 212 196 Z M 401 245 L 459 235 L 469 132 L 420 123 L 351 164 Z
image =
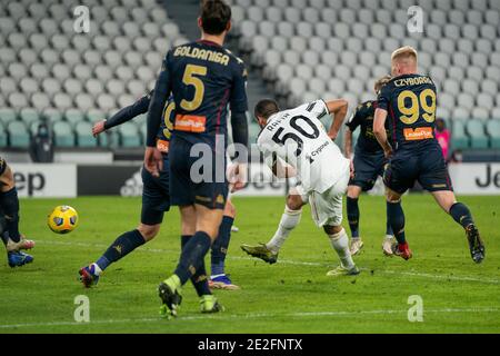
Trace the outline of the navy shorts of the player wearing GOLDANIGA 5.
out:
M 212 169 L 203 171 L 200 157 L 191 157 L 191 147 L 192 144 L 176 136 L 170 141 L 170 198 L 172 205 L 199 204 L 209 209 L 223 209 L 229 190 L 226 179 L 226 155 L 223 152 L 219 155 L 223 166 L 217 169 L 216 154 L 213 150 L 209 150 Z M 197 177 L 191 177 L 191 169 Z

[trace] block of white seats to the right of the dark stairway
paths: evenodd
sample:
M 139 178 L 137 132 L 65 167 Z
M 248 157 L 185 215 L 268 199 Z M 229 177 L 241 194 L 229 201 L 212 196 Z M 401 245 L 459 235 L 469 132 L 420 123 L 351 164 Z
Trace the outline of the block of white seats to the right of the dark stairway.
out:
M 498 0 L 420 2 L 424 36 L 407 31 L 406 0 L 232 0 L 240 51 L 287 106 L 342 96 L 354 108 L 374 98 L 390 53 L 410 44 L 436 81 L 438 117 L 452 126 L 456 148 L 493 145 L 484 122 L 500 118 Z M 367 82 L 368 80 L 368 82 Z M 476 122 L 480 121 L 480 122 Z M 491 128 L 490 128 L 491 127 Z

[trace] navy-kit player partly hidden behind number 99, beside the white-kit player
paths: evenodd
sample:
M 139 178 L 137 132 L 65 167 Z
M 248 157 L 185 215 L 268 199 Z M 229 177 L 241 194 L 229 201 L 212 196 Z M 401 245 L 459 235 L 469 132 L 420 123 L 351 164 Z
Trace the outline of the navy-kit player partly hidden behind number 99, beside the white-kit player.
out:
M 374 91 L 379 95 L 380 89 L 390 80 L 383 77 L 374 83 Z M 351 160 L 354 176 L 351 177 L 347 194 L 347 215 L 351 229 L 351 255 L 357 255 L 363 247 L 363 241 L 359 235 L 359 206 L 358 200 L 361 191 L 369 191 L 373 188 L 377 178 L 383 175 L 383 167 L 387 164 L 383 150 L 373 135 L 373 115 L 377 108 L 377 100 L 362 102 L 356 112 L 346 123 L 344 150 L 348 159 L 352 156 L 352 132 L 359 127 L 361 132 L 356 144 L 354 158 Z M 386 125 L 386 130 L 388 130 Z M 382 241 L 383 254 L 392 255 L 392 229 L 389 221 L 386 225 L 386 238 Z

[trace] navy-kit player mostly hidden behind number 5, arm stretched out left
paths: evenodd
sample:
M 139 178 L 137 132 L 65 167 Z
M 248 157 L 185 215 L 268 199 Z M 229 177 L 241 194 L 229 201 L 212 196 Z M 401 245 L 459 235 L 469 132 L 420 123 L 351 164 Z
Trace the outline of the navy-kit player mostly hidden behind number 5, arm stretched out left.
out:
M 137 102 L 121 109 L 108 120 L 96 122 L 92 127 L 92 134 L 97 137 L 106 130 L 130 121 L 141 113 L 148 112 L 151 95 L 152 92 L 143 96 Z M 172 98 L 170 98 L 166 105 L 163 120 L 157 137 L 157 147 L 161 150 L 164 158 L 163 170 L 160 172 L 159 178 L 152 177 L 148 171 L 142 170 L 143 191 L 141 222 L 136 230 L 120 235 L 96 263 L 80 269 L 80 278 L 86 287 L 97 285 L 101 273 L 106 268 L 112 263 L 123 258 L 139 246 L 152 240 L 160 230 L 163 214 L 170 209 L 168 147 L 172 129 L 174 106 Z M 229 200 L 227 205 L 224 218 L 219 229 L 219 238 L 217 239 L 217 244 L 213 244 L 212 246 L 213 278 L 211 287 L 219 289 L 238 289 L 239 287 L 233 285 L 224 273 L 224 259 L 230 241 L 231 225 L 236 215 L 236 209 Z

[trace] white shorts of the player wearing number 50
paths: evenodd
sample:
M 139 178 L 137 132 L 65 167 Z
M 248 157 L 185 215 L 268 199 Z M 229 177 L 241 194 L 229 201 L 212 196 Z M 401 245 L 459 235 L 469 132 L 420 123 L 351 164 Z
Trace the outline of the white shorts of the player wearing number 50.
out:
M 350 172 L 348 167 L 342 178 L 323 192 L 314 190 L 306 192 L 300 185 L 294 188 L 294 194 L 299 194 L 302 201 L 306 202 L 309 200 L 312 219 L 318 227 L 324 225 L 340 226 L 342 224 L 342 199 L 347 191 L 349 178 Z

